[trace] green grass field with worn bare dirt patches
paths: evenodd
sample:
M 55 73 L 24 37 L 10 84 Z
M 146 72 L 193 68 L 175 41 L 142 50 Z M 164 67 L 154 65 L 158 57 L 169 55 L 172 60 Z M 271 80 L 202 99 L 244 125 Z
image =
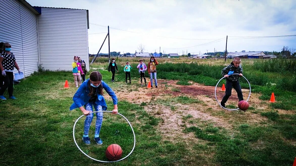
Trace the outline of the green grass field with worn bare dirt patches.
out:
M 105 69 L 107 64 L 103 63 L 103 59 L 99 61 L 102 62 L 91 67 Z M 69 111 L 77 89 L 72 73 L 44 71 L 35 73 L 15 85 L 14 94 L 17 100 L 0 101 L 0 164 L 293 164 L 296 157 L 296 93 L 279 85 L 261 83 L 263 79 L 271 83 L 279 79 L 285 80 L 284 78 L 287 80 L 287 74 L 275 77 L 274 73 L 252 69 L 253 62 L 248 61 L 250 66 L 246 64 L 244 71 L 247 78 L 254 77 L 250 81 L 254 89 L 251 94 L 254 96 L 253 105 L 246 112 L 226 111 L 220 109 L 210 95 L 191 96 L 183 93 L 182 89 L 196 83 L 201 86 L 215 86 L 220 73 L 198 70 L 199 73 L 195 74 L 185 71 L 186 68 L 182 72 L 181 68 L 178 68 L 181 63 L 168 64 L 169 62 L 161 60 L 165 64 L 158 66 L 158 79 L 163 79 L 159 80 L 159 90 L 144 89 L 140 87 L 134 59 L 129 60 L 134 65 L 131 72 L 132 85 L 125 84 L 125 75 L 121 70 L 123 67 L 120 66 L 124 61 L 118 62 L 120 72 L 116 74 L 115 83 L 111 83 L 111 73 L 107 70 L 100 72 L 103 80 L 120 99 L 122 98 L 118 103 L 118 111 L 131 122 L 136 134 L 136 147 L 131 156 L 112 164 L 97 163 L 84 156 L 75 146 L 72 136 L 74 122 L 82 114 L 79 109 Z M 223 62 L 219 61 L 215 65 L 201 61 L 192 65 L 217 71 L 221 70 Z M 255 78 L 258 74 L 263 78 Z M 295 79 L 294 74 L 291 74 L 291 77 Z M 69 81 L 68 89 L 63 88 L 66 79 Z M 148 77 L 147 79 L 149 81 Z M 176 83 L 170 83 L 171 80 L 176 80 Z M 285 83 L 286 86 L 290 84 L 289 80 Z M 245 87 L 244 82 L 242 86 Z M 276 103 L 268 102 L 271 92 L 276 94 Z M 150 93 L 152 95 L 149 95 Z M 176 93 L 179 95 L 173 95 Z M 7 93 L 4 95 L 7 96 Z M 126 100 L 123 97 L 125 95 Z M 104 96 L 108 110 L 111 111 L 112 100 L 107 93 L 104 93 Z M 104 156 L 105 149 L 115 143 L 122 147 L 123 157 L 126 156 L 133 146 L 133 135 L 127 122 L 118 115 L 104 113 L 100 132 L 103 145 L 96 145 L 93 141 L 95 118 L 89 133 L 89 146 L 84 145 L 81 140 L 84 118 L 78 121 L 75 135 L 81 149 L 91 157 L 107 161 Z M 170 119 L 178 122 L 178 125 L 168 123 Z

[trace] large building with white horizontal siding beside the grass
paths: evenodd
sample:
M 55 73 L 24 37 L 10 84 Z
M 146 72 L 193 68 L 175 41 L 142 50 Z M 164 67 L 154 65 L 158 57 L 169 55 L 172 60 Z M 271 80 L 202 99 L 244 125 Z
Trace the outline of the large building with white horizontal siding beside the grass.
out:
M 24 0 L 0 4 L 8 7 L 1 7 L 0 42 L 11 44 L 25 76 L 40 65 L 45 70 L 71 71 L 74 55 L 89 69 L 88 10 L 31 6 Z

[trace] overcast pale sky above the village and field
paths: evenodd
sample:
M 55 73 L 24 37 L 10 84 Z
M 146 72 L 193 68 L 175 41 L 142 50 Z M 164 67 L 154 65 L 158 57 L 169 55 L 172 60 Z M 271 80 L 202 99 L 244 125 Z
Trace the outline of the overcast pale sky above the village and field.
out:
M 182 54 L 182 51 L 281 51 L 296 48 L 295 0 L 27 0 L 32 6 L 89 10 L 89 53 L 97 53 L 110 26 L 110 51 Z M 98 25 L 102 26 L 98 26 Z M 116 28 L 116 29 L 112 29 Z M 121 29 L 121 30 L 118 30 Z M 100 33 L 100 34 L 94 34 Z M 239 38 L 238 38 L 239 37 Z M 202 39 L 202 40 L 201 40 Z M 221 40 L 218 40 L 221 39 Z M 208 44 L 206 44 L 208 43 Z M 108 52 L 107 43 L 102 53 Z

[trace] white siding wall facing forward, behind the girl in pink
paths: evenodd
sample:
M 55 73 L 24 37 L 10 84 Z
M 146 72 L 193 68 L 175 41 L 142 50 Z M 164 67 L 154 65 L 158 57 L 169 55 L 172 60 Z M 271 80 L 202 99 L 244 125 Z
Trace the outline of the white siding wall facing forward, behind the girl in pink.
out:
M 44 69 L 72 70 L 74 55 L 89 68 L 86 10 L 41 8 L 38 29 Z

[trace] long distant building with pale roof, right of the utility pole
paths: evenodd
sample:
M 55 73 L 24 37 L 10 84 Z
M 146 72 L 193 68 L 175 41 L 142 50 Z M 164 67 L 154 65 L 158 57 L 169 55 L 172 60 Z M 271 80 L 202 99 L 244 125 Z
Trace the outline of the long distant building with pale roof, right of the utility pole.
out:
M 252 51 L 252 52 L 229 52 L 228 58 L 240 57 L 240 58 L 276 58 L 276 55 L 265 55 L 263 51 Z

